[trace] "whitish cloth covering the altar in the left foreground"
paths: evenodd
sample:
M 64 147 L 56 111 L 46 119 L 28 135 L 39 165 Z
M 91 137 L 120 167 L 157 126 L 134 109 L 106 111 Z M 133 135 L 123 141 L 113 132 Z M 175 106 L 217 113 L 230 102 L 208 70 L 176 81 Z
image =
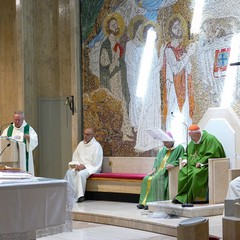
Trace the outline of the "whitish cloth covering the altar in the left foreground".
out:
M 46 236 L 50 234 L 43 234 L 45 230 L 64 229 L 68 220 L 67 194 L 67 182 L 61 179 L 1 183 L 0 239 L 35 239 L 38 231 Z

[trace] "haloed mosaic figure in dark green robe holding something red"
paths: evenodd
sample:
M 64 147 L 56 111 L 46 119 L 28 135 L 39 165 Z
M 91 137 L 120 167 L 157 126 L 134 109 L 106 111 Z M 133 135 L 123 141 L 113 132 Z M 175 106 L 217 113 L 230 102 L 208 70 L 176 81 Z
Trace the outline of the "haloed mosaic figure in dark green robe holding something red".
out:
M 122 140 L 132 141 L 133 131 L 128 117 L 129 91 L 124 61 L 125 49 L 119 41 L 124 29 L 124 19 L 119 13 L 109 14 L 103 22 L 106 38 L 100 48 L 100 85 L 107 88 L 116 99 L 122 102 Z

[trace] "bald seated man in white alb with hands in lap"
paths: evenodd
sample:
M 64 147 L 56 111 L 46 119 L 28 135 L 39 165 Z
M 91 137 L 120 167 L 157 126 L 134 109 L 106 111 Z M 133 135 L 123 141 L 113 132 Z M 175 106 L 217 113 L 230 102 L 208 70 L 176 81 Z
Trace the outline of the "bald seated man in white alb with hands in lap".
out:
M 94 130 L 86 128 L 83 132 L 83 141 L 73 152 L 70 168 L 65 175 L 65 179 L 75 191 L 78 202 L 84 201 L 87 178 L 93 173 L 101 172 L 102 161 L 102 146 L 94 138 Z

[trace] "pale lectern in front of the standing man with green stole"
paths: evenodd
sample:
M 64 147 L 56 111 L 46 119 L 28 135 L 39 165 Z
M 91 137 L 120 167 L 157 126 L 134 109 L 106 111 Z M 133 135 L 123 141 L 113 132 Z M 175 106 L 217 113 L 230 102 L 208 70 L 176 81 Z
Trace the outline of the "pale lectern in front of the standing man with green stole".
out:
M 0 137 L 0 165 L 26 171 L 26 147 L 22 142 Z

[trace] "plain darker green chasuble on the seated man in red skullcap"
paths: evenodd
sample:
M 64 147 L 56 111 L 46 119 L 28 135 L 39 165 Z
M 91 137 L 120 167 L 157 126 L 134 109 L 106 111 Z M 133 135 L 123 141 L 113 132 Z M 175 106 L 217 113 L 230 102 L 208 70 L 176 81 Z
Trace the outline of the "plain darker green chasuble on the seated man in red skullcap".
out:
M 200 143 L 191 141 L 183 159 L 188 163 L 179 171 L 178 194 L 181 203 L 208 201 L 208 159 L 223 158 L 225 152 L 217 138 L 203 130 Z M 205 164 L 196 168 L 196 163 Z

